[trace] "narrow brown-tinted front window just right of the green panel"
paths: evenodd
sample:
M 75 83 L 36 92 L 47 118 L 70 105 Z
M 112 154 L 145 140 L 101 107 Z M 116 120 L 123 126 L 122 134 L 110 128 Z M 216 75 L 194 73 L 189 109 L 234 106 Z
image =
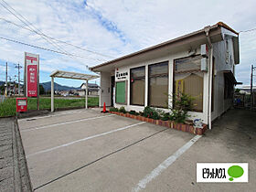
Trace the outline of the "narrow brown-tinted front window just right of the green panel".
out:
M 145 67 L 131 69 L 130 97 L 132 105 L 144 105 Z

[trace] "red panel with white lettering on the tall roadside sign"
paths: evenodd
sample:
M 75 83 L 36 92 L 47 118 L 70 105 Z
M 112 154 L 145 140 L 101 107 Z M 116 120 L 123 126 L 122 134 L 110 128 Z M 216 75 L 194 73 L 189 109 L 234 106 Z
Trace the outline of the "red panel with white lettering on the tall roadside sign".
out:
M 37 65 L 27 66 L 27 97 L 37 97 Z

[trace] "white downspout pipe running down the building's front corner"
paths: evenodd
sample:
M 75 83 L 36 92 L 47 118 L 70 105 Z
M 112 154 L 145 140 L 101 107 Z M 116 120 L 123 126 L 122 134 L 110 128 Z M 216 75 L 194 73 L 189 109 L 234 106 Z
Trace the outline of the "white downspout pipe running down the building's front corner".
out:
M 213 56 L 213 46 L 209 37 L 209 27 L 205 27 L 205 33 L 208 40 L 209 59 L 208 59 L 208 129 L 211 130 L 211 90 L 212 90 L 212 56 Z

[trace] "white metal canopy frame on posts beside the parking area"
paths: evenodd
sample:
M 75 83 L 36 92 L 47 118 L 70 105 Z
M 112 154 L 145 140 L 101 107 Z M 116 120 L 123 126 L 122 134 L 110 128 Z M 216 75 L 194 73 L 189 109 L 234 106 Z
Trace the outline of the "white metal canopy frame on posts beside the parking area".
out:
M 54 78 L 64 78 L 72 80 L 86 80 L 86 93 L 85 93 L 85 109 L 88 109 L 88 80 L 100 78 L 99 75 L 91 75 L 79 72 L 70 72 L 64 70 L 55 70 L 49 77 L 51 77 L 51 112 L 54 112 Z

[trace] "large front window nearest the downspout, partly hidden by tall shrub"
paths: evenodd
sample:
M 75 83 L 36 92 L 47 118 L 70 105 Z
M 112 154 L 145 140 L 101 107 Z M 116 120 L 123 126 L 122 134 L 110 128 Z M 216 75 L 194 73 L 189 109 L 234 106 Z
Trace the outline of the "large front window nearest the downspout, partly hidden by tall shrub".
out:
M 204 73 L 200 67 L 200 56 L 175 61 L 175 95 L 178 97 L 183 92 L 192 96 L 195 99 L 193 111 L 196 112 L 203 112 Z

